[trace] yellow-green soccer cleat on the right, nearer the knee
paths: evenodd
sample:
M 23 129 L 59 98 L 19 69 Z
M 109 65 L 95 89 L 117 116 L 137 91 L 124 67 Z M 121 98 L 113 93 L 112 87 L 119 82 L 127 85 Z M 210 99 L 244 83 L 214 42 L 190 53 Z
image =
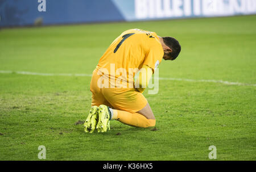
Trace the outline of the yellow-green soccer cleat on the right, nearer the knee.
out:
M 109 107 L 101 104 L 98 107 L 98 124 L 96 126 L 98 132 L 106 132 L 110 130 L 110 111 Z

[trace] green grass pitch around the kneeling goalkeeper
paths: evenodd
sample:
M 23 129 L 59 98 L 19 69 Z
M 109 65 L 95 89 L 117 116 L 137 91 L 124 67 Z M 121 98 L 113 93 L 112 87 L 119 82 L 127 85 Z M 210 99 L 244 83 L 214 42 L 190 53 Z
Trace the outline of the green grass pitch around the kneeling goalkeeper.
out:
M 162 61 L 159 93 L 144 95 L 156 131 L 111 122 L 85 133 L 90 77 L 101 55 L 130 28 L 174 36 L 175 61 Z M 256 160 L 256 16 L 81 24 L 0 30 L 0 160 Z M 3 73 L 13 71 L 13 73 Z M 182 79 L 194 79 L 190 82 Z M 239 82 L 197 82 L 201 79 Z

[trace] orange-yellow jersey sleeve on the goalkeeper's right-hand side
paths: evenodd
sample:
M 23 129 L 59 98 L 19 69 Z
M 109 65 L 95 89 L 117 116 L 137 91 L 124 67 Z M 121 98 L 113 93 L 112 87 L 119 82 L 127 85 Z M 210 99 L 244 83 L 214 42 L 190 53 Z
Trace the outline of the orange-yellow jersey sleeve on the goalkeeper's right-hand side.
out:
M 162 61 L 163 58 L 163 48 L 159 45 L 154 45 L 150 47 L 149 51 L 147 52 L 143 65 L 147 65 L 152 69 L 152 72 L 155 72 L 155 68 L 158 68 L 158 65 Z

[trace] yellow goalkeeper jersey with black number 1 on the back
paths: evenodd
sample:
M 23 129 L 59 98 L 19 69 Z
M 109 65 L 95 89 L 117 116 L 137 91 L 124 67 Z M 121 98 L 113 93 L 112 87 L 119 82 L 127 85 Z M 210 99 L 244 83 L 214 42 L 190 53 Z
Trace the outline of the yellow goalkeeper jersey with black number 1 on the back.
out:
M 119 35 L 100 58 L 96 70 L 110 82 L 134 83 L 134 75 L 147 65 L 154 73 L 163 58 L 163 48 L 155 32 L 127 30 Z

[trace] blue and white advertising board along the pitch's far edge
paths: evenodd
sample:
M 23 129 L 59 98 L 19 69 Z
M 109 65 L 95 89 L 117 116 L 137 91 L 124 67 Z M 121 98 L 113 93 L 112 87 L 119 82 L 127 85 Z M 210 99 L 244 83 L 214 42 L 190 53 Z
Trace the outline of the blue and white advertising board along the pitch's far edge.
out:
M 0 26 L 256 14 L 255 0 L 0 0 Z

